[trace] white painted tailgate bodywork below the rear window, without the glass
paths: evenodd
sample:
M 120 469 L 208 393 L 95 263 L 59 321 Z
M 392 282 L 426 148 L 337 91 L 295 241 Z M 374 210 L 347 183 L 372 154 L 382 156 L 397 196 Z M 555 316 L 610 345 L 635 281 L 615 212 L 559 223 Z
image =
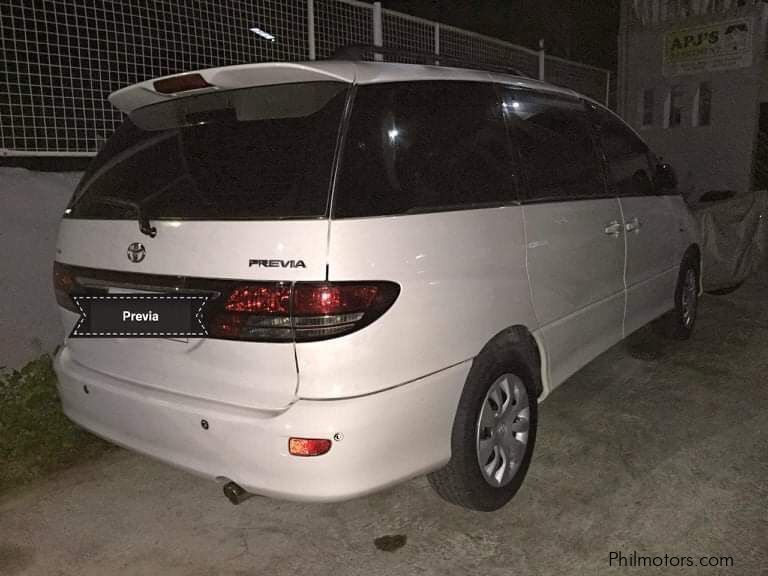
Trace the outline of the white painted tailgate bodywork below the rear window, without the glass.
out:
M 167 222 L 158 234 L 139 234 L 132 221 L 64 220 L 57 260 L 80 267 L 119 271 L 89 274 L 89 284 L 110 291 L 162 292 L 181 279 L 246 281 L 322 280 L 327 221 Z M 142 242 L 146 256 L 127 257 L 128 246 Z M 302 260 L 306 267 L 255 267 L 253 259 Z M 169 273 L 175 275 L 169 275 Z M 183 276 L 180 274 L 183 273 Z M 168 282 L 158 281 L 158 276 Z M 144 279 L 146 278 L 146 279 Z M 63 311 L 69 333 L 77 315 Z M 72 359 L 89 368 L 145 386 L 198 398 L 276 409 L 295 397 L 296 360 L 292 342 L 239 342 L 212 338 L 72 338 Z

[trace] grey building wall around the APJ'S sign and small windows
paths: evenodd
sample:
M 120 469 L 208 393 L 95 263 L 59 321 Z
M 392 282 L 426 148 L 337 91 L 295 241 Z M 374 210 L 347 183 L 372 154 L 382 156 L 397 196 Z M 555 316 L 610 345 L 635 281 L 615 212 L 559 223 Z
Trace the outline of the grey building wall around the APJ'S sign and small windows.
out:
M 620 43 L 620 113 L 654 151 L 676 169 L 683 193 L 696 200 L 708 190 L 750 189 L 752 153 L 757 134 L 759 103 L 768 101 L 765 59 L 765 6 L 754 4 L 719 14 L 705 14 L 653 24 L 631 20 L 626 9 Z M 752 66 L 697 74 L 665 76 L 664 36 L 670 30 L 708 25 L 733 18 L 754 18 Z M 712 90 L 711 122 L 695 126 L 694 99 L 702 82 Z M 667 99 L 673 86 L 685 87 L 682 121 L 664 127 Z M 654 89 L 653 125 L 642 126 L 643 91 Z

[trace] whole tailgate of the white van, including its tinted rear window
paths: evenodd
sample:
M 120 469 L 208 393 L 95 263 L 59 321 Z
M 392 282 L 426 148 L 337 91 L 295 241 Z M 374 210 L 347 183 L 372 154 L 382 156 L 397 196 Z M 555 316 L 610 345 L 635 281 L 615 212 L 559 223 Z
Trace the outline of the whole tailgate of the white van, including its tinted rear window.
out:
M 110 292 L 324 280 L 348 86 L 327 75 L 213 86 L 130 111 L 67 208 L 57 261 Z M 63 315 L 69 332 L 77 316 Z M 70 338 L 66 346 L 73 361 L 143 386 L 264 409 L 295 399 L 290 337 L 220 336 L 232 339 Z

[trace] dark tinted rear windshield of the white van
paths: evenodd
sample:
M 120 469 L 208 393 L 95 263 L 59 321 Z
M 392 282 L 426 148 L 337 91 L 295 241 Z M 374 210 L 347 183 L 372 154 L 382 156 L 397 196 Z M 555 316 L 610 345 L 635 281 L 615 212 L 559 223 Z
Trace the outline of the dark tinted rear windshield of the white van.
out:
M 347 88 L 282 84 L 140 108 L 91 164 L 68 216 L 322 217 Z

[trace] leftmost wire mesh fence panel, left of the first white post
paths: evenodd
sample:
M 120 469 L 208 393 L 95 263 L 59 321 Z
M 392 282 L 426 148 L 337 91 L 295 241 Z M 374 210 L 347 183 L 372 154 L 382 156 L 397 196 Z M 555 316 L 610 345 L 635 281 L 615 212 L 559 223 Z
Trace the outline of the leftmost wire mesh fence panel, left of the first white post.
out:
M 307 3 L 0 2 L 0 148 L 93 153 L 121 121 L 110 92 L 254 60 L 304 60 Z M 259 22 L 280 42 L 265 41 Z M 244 26 L 245 24 L 245 26 Z

